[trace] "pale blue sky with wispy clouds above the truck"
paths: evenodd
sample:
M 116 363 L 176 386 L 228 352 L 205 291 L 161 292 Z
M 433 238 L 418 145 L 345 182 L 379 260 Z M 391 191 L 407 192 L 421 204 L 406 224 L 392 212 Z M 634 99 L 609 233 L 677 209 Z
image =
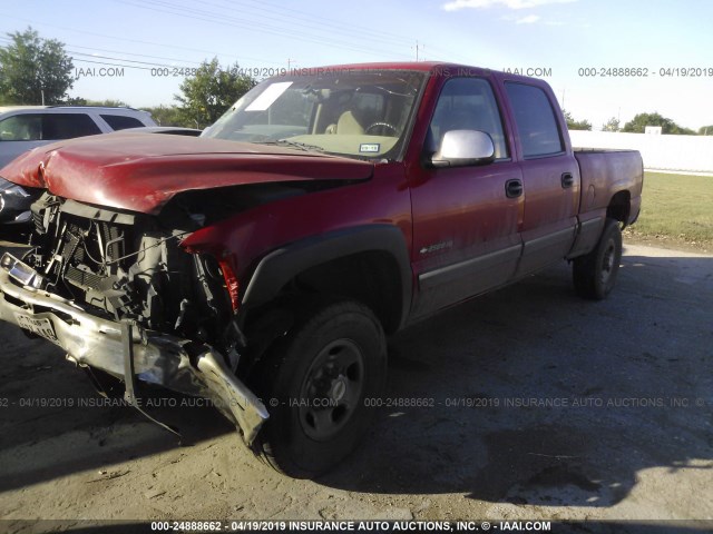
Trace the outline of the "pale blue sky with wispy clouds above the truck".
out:
M 0 0 L 0 46 L 31 26 L 74 58 L 70 96 L 133 107 L 177 103 L 214 57 L 258 79 L 418 58 L 544 78 L 594 129 L 660 112 L 697 130 L 713 125 L 712 19 L 709 0 Z

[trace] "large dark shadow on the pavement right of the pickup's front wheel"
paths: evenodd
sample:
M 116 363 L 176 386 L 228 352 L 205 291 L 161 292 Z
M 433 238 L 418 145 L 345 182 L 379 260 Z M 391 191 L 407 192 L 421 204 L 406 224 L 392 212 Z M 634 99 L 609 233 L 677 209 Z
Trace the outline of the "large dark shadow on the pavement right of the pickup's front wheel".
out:
M 561 266 L 403 332 L 367 446 L 320 482 L 604 507 L 712 469 L 713 257 L 676 254 L 625 257 L 603 303 Z

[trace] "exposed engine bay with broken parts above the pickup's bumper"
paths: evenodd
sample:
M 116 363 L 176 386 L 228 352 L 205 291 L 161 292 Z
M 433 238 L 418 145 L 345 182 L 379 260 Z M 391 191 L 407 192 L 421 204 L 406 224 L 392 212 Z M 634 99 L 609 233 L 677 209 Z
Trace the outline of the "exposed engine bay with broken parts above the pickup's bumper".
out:
M 31 211 L 36 246 L 23 261 L 42 276 L 40 288 L 116 322 L 234 348 L 223 335 L 232 310 L 217 261 L 178 246 L 196 229 L 191 220 L 166 229 L 157 217 L 49 194 Z

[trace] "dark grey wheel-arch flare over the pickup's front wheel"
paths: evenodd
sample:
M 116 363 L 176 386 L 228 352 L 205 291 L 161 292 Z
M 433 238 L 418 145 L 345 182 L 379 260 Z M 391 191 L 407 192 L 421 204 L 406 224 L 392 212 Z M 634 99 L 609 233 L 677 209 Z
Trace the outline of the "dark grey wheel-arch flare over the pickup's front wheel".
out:
M 388 253 L 397 261 L 401 281 L 400 328 L 411 307 L 413 278 L 406 239 L 393 225 L 364 225 L 329 231 L 273 250 L 255 268 L 243 296 L 243 307 L 268 303 L 291 279 L 311 267 L 368 251 Z

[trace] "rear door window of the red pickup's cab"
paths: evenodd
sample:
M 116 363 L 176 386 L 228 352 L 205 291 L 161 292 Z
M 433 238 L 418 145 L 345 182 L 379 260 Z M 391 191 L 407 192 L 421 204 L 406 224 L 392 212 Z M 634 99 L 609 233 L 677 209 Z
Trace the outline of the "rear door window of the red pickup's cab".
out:
M 537 86 L 505 82 L 510 100 L 522 157 L 540 158 L 565 151 L 557 116 L 547 93 Z

